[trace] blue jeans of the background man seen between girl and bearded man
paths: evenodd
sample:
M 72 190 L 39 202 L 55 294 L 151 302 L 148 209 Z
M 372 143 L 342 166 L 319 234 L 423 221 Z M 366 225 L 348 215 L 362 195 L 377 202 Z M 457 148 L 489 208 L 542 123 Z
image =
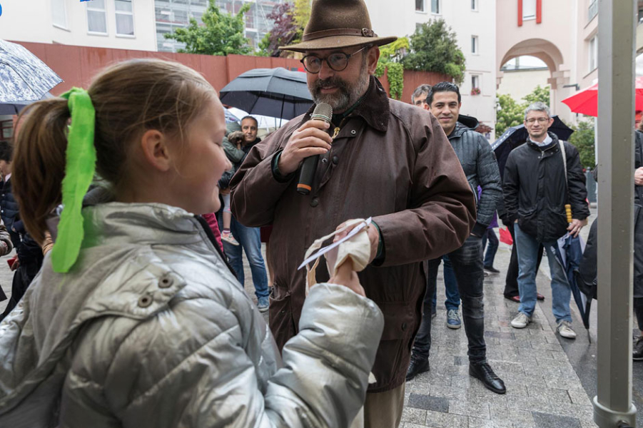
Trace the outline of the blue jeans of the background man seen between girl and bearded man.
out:
M 239 245 L 231 245 L 223 241 L 223 248 L 226 250 L 230 265 L 237 274 L 237 280 L 244 285 L 245 277 L 243 275 L 243 255 L 241 250 L 245 251 L 245 257 L 250 263 L 250 272 L 253 275 L 253 284 L 255 285 L 255 295 L 259 297 L 268 297 L 268 275 L 265 273 L 265 264 L 263 255 L 261 255 L 261 239 L 259 228 L 246 228 L 235 218 L 232 218 L 230 230 L 238 241 Z

